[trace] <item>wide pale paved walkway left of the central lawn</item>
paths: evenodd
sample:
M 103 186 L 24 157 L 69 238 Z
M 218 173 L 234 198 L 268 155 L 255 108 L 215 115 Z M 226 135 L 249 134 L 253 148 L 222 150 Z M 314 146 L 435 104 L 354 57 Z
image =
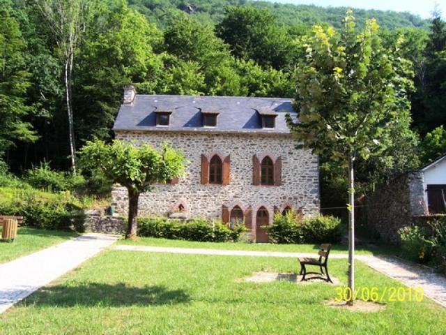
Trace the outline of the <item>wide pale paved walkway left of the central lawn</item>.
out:
M 84 234 L 0 265 L 0 313 L 110 246 L 117 237 Z

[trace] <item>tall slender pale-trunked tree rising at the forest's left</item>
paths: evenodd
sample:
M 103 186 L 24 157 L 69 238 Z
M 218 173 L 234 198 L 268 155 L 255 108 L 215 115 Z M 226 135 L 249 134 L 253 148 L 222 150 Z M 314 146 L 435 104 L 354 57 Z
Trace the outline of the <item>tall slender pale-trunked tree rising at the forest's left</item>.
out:
M 75 50 L 81 34 L 85 31 L 88 17 L 91 15 L 91 0 L 37 0 L 54 39 L 59 47 L 63 63 L 63 81 L 65 84 L 66 108 L 68 113 L 68 131 L 72 170 L 76 173 L 75 128 L 72 112 L 71 87 Z

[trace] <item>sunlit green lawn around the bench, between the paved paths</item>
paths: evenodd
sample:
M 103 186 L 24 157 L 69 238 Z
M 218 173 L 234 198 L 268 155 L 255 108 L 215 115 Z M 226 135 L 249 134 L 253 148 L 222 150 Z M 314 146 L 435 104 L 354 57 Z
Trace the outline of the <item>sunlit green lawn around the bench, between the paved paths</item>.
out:
M 346 282 L 346 261 L 331 260 Z M 287 258 L 105 251 L 0 315 L 0 334 L 445 334 L 428 299 L 377 313 L 324 306 L 335 286 L 245 283 L 254 271 L 297 271 Z M 357 288 L 400 287 L 357 262 Z

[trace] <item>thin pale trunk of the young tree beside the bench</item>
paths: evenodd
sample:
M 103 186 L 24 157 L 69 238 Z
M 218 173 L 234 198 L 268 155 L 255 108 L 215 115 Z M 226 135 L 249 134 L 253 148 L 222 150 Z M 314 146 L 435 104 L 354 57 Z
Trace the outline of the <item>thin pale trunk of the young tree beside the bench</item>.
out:
M 353 154 L 348 156 L 348 288 L 351 296 L 348 304 L 353 305 L 355 296 L 355 174 Z

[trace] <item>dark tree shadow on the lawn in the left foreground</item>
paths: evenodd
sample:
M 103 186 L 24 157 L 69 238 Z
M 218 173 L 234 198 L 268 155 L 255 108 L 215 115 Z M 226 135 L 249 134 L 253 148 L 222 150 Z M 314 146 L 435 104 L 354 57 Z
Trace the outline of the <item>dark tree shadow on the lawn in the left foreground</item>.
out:
M 137 288 L 117 283 L 83 283 L 77 286 L 57 285 L 43 288 L 27 299 L 36 306 L 148 306 L 184 304 L 190 296 L 183 290 L 168 290 L 164 286 Z

